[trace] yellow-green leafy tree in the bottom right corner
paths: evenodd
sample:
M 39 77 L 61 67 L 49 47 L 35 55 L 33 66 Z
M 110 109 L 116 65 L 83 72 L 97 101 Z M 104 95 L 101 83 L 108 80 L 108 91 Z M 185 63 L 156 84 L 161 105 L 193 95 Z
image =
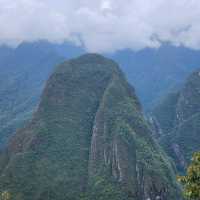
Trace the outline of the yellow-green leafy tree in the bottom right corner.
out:
M 177 179 L 183 185 L 183 194 L 186 199 L 200 199 L 200 152 L 194 153 L 187 175 L 179 176 Z

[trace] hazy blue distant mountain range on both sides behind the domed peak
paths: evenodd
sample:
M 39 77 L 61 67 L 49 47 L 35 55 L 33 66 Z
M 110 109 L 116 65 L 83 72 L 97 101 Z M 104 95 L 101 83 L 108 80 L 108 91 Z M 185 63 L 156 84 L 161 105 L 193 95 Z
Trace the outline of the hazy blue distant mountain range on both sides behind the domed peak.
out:
M 55 65 L 84 52 L 73 44 L 45 41 L 22 43 L 16 49 L 0 47 L 0 146 L 31 118 Z M 200 66 L 200 51 L 167 44 L 159 49 L 123 50 L 106 56 L 120 64 L 145 111 L 169 91 L 180 88 L 187 75 Z

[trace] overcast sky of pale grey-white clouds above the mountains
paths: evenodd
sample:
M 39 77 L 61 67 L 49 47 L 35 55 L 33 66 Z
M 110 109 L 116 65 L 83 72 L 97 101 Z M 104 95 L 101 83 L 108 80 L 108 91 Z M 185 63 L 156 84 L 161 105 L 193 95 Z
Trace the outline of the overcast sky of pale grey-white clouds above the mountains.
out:
M 89 51 L 200 49 L 200 0 L 0 0 L 0 43 L 47 39 Z

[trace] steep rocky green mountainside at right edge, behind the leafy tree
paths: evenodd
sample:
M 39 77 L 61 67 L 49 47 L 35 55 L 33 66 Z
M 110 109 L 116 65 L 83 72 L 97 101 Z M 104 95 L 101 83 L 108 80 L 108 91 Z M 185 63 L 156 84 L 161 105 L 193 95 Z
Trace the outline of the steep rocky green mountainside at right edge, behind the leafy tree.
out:
M 161 144 L 184 171 L 194 152 L 200 151 L 200 70 L 184 86 L 169 94 L 153 111 L 161 128 Z

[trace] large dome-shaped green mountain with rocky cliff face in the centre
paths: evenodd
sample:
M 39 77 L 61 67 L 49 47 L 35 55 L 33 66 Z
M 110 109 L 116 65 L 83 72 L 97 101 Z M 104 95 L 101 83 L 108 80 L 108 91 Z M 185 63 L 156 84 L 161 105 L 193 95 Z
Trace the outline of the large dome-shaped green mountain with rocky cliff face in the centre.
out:
M 97 54 L 55 69 L 0 158 L 0 191 L 14 200 L 179 199 L 134 89 Z

